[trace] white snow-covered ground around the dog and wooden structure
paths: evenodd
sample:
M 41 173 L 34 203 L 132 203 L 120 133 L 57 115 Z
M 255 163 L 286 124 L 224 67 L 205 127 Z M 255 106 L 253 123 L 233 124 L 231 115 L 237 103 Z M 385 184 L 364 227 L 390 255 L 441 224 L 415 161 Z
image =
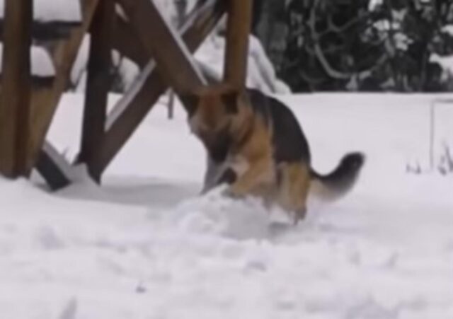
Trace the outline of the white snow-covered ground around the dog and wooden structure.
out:
M 317 170 L 367 153 L 348 197 L 312 200 L 296 227 L 252 199 L 199 197 L 204 151 L 180 108 L 156 105 L 103 187 L 83 171 L 56 194 L 0 180 L 1 318 L 453 318 L 453 175 L 406 173 L 428 170 L 436 96 L 280 98 Z M 69 158 L 83 100 L 65 95 L 50 130 Z M 436 150 L 452 120 L 439 108 Z

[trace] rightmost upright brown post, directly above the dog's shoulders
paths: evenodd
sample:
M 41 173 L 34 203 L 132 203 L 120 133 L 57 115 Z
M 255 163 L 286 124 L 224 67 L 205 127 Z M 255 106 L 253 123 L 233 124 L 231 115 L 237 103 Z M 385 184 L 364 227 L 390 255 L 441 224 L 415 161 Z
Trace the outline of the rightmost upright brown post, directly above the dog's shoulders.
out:
M 248 36 L 251 29 L 253 0 L 226 0 L 226 52 L 224 81 L 241 88 L 246 83 Z

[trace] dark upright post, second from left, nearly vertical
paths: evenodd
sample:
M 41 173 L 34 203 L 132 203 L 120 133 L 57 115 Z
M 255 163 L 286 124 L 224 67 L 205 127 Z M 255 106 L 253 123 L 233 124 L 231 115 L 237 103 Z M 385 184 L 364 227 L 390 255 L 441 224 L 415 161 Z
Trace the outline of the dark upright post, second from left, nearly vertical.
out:
M 100 176 L 93 170 L 91 163 L 105 133 L 108 91 L 111 86 L 114 18 L 114 1 L 103 0 L 98 4 L 91 24 L 84 120 L 78 161 L 87 164 L 88 173 L 96 181 L 99 181 Z

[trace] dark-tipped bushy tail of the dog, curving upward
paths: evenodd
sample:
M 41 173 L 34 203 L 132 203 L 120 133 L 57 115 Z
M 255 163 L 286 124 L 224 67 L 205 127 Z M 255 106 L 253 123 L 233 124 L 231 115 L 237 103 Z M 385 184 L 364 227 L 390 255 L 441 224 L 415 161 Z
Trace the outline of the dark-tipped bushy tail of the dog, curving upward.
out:
M 345 154 L 337 168 L 321 175 L 311 169 L 310 193 L 326 201 L 336 200 L 352 189 L 365 163 L 365 155 L 360 152 Z

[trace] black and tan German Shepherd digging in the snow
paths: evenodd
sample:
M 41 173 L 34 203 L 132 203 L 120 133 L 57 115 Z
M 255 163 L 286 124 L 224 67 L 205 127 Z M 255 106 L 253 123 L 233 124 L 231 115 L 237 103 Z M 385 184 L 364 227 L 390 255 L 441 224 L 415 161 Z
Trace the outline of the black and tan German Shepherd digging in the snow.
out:
M 202 193 L 227 184 L 231 197 L 260 197 L 277 204 L 297 223 L 306 214 L 309 193 L 337 199 L 355 185 L 365 161 L 349 152 L 331 173 L 311 167 L 309 144 L 292 111 L 258 90 L 226 84 L 181 95 L 190 130 L 207 150 Z

